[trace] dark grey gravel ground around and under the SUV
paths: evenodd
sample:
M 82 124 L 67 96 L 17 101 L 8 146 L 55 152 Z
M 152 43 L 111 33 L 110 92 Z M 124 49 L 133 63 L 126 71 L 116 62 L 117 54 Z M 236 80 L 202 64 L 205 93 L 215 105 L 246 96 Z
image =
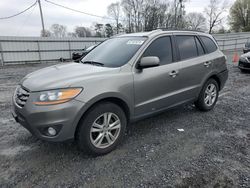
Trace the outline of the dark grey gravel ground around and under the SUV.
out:
M 250 74 L 230 64 L 214 110 L 186 105 L 131 124 L 120 147 L 93 158 L 11 117 L 18 81 L 46 66 L 0 69 L 0 187 L 250 187 Z

